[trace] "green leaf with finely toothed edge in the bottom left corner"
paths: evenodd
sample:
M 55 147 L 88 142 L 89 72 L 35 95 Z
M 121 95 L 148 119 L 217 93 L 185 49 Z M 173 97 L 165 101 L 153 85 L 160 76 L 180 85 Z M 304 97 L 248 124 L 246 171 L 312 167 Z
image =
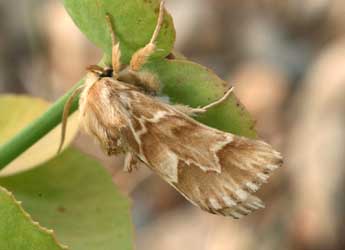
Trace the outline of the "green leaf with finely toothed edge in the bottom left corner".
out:
M 24 211 L 20 203 L 0 186 L 0 249 L 61 250 L 51 230 L 41 227 Z

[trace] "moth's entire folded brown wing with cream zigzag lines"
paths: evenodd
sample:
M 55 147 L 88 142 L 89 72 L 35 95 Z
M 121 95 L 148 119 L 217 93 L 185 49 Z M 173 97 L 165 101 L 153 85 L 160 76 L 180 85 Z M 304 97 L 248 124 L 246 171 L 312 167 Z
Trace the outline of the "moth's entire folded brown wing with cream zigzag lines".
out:
M 189 201 L 234 218 L 264 207 L 252 193 L 282 164 L 270 145 L 207 127 L 136 91 L 123 101 L 132 116 L 129 144 L 136 141 L 137 156 Z

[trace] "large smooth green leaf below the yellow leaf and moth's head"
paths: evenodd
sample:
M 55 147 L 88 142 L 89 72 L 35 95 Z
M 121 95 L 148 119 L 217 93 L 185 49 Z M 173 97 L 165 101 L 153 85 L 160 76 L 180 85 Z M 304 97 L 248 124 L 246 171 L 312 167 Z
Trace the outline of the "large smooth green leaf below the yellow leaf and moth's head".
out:
M 35 220 L 53 228 L 57 239 L 71 249 L 132 249 L 127 199 L 97 161 L 77 150 L 68 149 L 31 171 L 0 178 L 0 185 L 11 190 Z M 20 231 L 15 235 L 0 237 L 0 246 L 18 238 L 29 241 Z

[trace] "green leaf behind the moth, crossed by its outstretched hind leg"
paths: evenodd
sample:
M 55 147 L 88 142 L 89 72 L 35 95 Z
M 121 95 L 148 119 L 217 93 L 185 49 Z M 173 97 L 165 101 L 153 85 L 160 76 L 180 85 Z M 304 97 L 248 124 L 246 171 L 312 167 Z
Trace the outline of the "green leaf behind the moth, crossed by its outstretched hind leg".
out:
M 227 83 L 211 70 L 187 60 L 160 60 L 146 66 L 162 84 L 162 92 L 173 103 L 191 107 L 209 104 L 224 94 Z M 256 137 L 255 122 L 235 95 L 196 117 L 200 122 L 237 135 Z

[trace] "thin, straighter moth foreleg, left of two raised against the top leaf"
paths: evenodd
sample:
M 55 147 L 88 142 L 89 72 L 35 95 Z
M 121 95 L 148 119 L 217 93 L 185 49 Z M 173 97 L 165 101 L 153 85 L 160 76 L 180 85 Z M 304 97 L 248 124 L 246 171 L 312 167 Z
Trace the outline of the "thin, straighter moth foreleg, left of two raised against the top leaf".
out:
M 112 62 L 112 69 L 113 69 L 113 78 L 117 79 L 119 77 L 121 71 L 121 51 L 120 51 L 120 42 L 116 40 L 116 35 L 114 31 L 114 27 L 112 25 L 111 19 L 109 15 L 106 15 L 106 20 L 108 23 L 108 27 L 110 30 L 111 35 L 111 44 L 112 44 L 112 51 L 111 51 L 111 62 Z

